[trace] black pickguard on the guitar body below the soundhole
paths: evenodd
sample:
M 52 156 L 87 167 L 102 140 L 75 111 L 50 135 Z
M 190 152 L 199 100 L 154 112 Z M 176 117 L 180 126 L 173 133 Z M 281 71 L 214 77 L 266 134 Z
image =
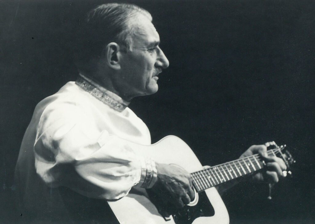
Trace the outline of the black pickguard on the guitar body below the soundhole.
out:
M 172 214 L 176 224 L 191 224 L 198 217 L 214 216 L 215 211 L 205 192 L 199 193 L 199 201 L 195 206 L 184 206 Z

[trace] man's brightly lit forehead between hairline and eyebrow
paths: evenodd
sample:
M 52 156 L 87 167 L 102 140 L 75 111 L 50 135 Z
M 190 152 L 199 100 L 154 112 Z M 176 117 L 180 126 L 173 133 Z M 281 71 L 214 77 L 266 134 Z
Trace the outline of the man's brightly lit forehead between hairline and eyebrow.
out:
M 158 35 L 152 22 L 145 16 L 139 16 L 132 22 L 134 34 L 133 45 L 135 48 L 147 47 L 151 44 L 160 42 Z

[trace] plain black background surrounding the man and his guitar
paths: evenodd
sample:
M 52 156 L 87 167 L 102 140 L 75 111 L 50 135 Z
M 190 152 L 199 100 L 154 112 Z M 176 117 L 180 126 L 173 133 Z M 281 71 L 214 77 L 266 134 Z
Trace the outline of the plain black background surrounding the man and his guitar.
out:
M 14 223 L 13 173 L 35 105 L 73 81 L 79 19 L 106 1 L 0 1 L 0 223 Z M 125 1 L 126 2 L 126 1 Z M 252 144 L 287 144 L 297 161 L 266 184 L 224 195 L 231 223 L 314 223 L 314 1 L 127 1 L 152 13 L 170 66 L 131 109 L 152 142 L 173 134 L 204 165 Z

